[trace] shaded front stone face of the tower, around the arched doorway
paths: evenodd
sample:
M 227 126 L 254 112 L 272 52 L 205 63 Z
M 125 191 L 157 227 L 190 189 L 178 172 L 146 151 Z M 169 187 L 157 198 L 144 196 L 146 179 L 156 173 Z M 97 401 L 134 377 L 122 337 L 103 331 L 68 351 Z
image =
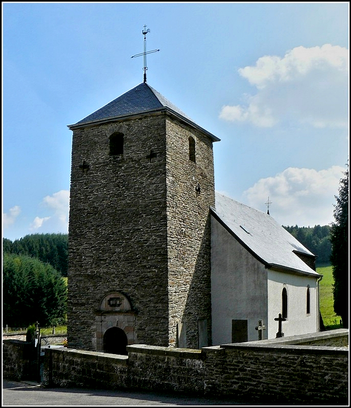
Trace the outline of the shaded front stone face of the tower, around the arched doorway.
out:
M 124 134 L 124 154 L 109 136 Z M 150 153 L 153 157 L 150 157 Z M 80 166 L 89 166 L 84 169 Z M 96 349 L 96 311 L 122 292 L 135 342 L 168 345 L 165 119 L 74 131 L 68 242 L 68 346 Z

